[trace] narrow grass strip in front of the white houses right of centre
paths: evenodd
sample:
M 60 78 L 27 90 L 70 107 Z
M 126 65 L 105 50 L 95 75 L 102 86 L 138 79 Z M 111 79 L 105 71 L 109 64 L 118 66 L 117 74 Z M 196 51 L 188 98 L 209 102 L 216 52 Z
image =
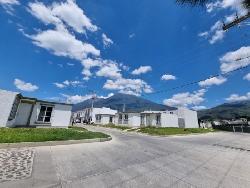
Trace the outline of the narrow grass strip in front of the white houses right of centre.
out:
M 192 134 L 192 133 L 209 133 L 214 132 L 213 129 L 199 129 L 199 128 L 174 128 L 174 127 L 143 127 L 138 132 L 150 135 L 178 135 L 178 134 Z

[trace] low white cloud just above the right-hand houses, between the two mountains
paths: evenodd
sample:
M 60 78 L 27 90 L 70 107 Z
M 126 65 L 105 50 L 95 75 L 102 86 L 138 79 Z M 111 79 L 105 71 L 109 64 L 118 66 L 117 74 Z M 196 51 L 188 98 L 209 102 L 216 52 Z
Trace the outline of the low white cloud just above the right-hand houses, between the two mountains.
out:
M 170 99 L 165 99 L 163 103 L 168 106 L 176 107 L 197 106 L 205 100 L 205 93 L 205 89 L 200 89 L 198 91 L 195 91 L 194 93 L 178 93 L 173 95 Z

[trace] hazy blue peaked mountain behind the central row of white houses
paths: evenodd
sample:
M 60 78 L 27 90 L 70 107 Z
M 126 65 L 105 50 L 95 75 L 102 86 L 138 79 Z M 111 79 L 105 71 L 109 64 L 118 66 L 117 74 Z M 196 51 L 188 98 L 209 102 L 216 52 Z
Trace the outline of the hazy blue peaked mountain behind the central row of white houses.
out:
M 73 106 L 73 112 L 82 110 L 84 108 L 90 108 L 92 100 L 86 100 Z M 94 107 L 101 108 L 107 107 L 114 110 L 122 111 L 125 105 L 127 112 L 141 112 L 144 110 L 174 110 L 175 108 L 157 104 L 152 101 L 127 94 L 115 94 L 109 98 L 98 98 L 94 101 Z

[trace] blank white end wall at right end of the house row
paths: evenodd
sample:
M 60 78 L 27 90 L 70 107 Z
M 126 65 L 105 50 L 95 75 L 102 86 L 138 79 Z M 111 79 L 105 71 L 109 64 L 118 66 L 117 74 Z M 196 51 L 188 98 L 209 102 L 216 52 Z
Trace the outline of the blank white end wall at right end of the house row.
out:
M 185 128 L 199 128 L 197 112 L 187 108 L 178 108 L 178 115 L 185 120 Z

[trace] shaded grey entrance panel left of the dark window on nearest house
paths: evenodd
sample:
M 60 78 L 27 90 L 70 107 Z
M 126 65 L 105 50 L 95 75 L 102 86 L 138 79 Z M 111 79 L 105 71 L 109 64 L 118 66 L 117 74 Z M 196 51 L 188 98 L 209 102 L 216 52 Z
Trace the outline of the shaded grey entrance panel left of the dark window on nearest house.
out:
M 17 110 L 15 125 L 26 126 L 29 120 L 31 109 L 32 109 L 32 104 L 20 103 Z

